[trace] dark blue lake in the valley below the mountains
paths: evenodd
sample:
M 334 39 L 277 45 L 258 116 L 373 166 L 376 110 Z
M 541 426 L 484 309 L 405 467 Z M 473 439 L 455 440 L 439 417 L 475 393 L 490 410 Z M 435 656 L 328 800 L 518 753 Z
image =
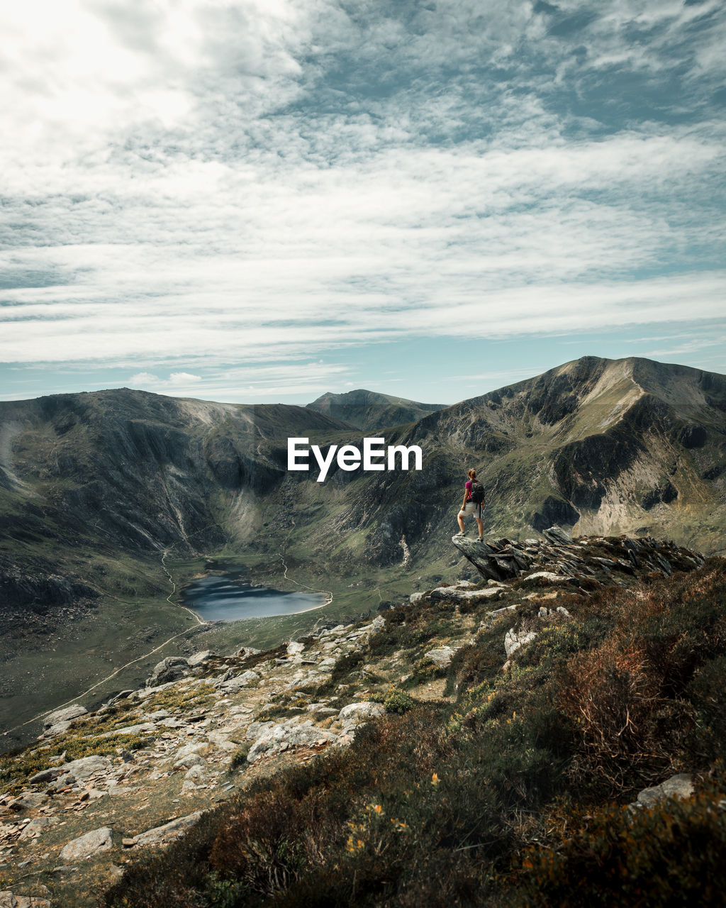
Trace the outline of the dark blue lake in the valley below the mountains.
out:
M 203 621 L 295 615 L 324 602 L 321 593 L 283 593 L 270 587 L 251 587 L 231 577 L 201 577 L 182 593 L 182 605 L 193 609 Z

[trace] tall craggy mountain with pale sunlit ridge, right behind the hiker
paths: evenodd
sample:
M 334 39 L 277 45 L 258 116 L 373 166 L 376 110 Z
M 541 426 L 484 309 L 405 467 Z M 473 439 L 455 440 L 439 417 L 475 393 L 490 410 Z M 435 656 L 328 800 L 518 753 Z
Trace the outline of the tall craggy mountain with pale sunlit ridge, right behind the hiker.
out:
M 396 442 L 419 445 L 426 469 L 377 474 L 350 523 L 405 534 L 414 557 L 441 545 L 471 467 L 487 534 L 557 522 L 726 550 L 726 377 L 716 373 L 584 357 L 437 410 Z

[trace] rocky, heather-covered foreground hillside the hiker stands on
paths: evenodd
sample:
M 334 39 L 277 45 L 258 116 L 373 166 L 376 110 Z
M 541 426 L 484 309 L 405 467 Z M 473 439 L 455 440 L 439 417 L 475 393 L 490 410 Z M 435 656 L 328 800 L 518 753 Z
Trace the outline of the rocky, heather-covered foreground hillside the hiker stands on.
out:
M 45 716 L 0 759 L 5 903 L 721 904 L 726 560 L 486 543 L 474 582 Z

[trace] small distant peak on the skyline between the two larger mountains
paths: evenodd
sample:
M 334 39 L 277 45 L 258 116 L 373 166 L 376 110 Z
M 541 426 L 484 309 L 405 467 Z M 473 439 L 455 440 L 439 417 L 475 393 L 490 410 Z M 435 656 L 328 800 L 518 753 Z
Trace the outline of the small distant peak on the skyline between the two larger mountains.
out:
M 416 422 L 428 413 L 443 410 L 446 404 L 418 403 L 416 400 L 391 397 L 389 394 L 378 394 L 377 391 L 361 388 L 347 391 L 345 394 L 333 394 L 328 391 L 307 406 L 309 410 L 317 410 L 334 419 L 342 419 L 357 429 L 378 432 L 390 426 Z

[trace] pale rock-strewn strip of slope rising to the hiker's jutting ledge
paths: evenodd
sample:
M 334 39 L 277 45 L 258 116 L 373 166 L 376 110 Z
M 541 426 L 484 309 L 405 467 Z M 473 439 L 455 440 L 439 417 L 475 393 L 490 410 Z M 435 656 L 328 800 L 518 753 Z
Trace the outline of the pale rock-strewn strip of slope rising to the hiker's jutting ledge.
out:
M 348 746 L 401 696 L 440 698 L 452 660 L 493 628 L 502 675 L 597 590 L 703 565 L 652 538 L 573 540 L 560 528 L 544 537 L 454 538 L 477 582 L 414 593 L 407 608 L 267 652 L 166 658 L 145 686 L 94 712 L 74 704 L 46 716 L 35 745 L 0 758 L 0 889 L 99 903 L 129 861 L 174 841 L 211 804 Z M 396 616 L 411 607 L 437 618 L 406 638 Z

